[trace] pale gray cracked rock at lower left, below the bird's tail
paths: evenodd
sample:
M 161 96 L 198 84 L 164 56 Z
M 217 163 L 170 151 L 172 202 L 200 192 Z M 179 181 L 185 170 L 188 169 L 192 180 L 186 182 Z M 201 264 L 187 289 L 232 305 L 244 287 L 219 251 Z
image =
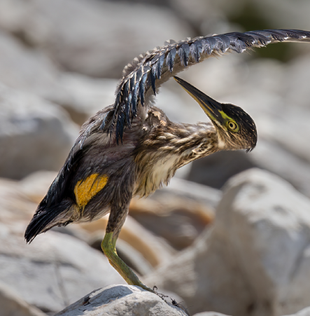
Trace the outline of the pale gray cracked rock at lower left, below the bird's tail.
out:
M 0 280 L 45 312 L 92 289 L 125 283 L 103 254 L 69 235 L 49 231 L 26 245 L 22 235 L 1 230 L 0 240 Z

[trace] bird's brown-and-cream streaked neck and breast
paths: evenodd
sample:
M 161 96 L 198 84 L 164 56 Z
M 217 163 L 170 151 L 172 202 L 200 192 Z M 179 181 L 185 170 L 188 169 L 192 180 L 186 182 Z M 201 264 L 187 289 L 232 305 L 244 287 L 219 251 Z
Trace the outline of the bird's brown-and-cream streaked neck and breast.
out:
M 153 193 L 168 184 L 176 170 L 192 160 L 219 151 L 220 141 L 211 123 L 176 124 L 155 128 L 136 155 L 136 195 Z

